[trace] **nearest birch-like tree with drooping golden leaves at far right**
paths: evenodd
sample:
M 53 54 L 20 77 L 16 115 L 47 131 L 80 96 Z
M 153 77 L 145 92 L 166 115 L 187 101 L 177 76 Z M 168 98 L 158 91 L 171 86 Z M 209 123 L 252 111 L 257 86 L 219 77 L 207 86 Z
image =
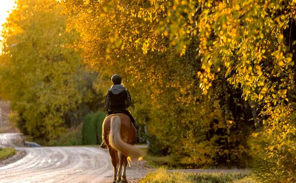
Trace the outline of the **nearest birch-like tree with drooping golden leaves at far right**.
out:
M 294 182 L 295 174 L 295 0 L 178 1 L 170 3 L 170 40 L 181 54 L 198 39 L 200 87 L 207 93 L 217 70 L 259 112 L 256 176 Z M 294 33 L 293 33 L 294 32 Z M 180 47 L 180 46 L 181 47 Z

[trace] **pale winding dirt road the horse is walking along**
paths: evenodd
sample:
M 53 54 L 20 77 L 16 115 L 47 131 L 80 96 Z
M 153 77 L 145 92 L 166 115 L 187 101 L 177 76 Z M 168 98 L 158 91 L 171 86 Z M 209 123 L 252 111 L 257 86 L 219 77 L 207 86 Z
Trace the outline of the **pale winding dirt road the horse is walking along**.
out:
M 0 145 L 14 146 L 12 134 L 0 134 Z M 113 167 L 107 150 L 96 147 L 25 148 L 20 160 L 0 167 L 1 183 L 108 183 Z M 128 169 L 127 178 L 143 177 L 142 170 Z

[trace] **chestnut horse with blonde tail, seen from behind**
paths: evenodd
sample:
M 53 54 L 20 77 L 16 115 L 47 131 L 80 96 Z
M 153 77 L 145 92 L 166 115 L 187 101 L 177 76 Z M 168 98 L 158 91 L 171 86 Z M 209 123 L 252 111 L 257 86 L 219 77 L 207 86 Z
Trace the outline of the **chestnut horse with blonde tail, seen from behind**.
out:
M 114 169 L 113 183 L 127 183 L 126 166 L 128 161 L 131 159 L 141 160 L 145 155 L 145 152 L 133 146 L 137 142 L 135 126 L 125 114 L 109 115 L 103 122 L 102 139 L 111 156 Z

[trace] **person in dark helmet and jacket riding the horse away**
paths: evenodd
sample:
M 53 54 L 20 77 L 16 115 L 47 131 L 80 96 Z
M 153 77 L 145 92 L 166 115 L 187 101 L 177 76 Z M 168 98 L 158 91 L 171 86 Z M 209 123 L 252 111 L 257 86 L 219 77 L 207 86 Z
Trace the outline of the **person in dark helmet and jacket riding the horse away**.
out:
M 113 75 L 111 77 L 111 81 L 113 85 L 111 89 L 108 90 L 105 98 L 105 109 L 107 111 L 107 116 L 116 113 L 126 114 L 131 119 L 131 122 L 136 128 L 138 134 L 138 142 L 142 142 L 143 139 L 138 133 L 137 123 L 131 113 L 127 110 L 127 108 L 131 105 L 131 95 L 129 91 L 121 84 L 122 79 L 118 74 Z M 103 149 L 107 148 L 104 142 L 102 142 L 100 147 Z

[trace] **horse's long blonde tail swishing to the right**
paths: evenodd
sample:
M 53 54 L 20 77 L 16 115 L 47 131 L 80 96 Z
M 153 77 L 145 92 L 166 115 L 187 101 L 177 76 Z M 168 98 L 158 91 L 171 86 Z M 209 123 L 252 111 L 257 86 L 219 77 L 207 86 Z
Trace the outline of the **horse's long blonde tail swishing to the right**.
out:
M 135 148 L 134 146 L 123 142 L 120 136 L 121 119 L 119 116 L 111 118 L 111 128 L 109 142 L 113 149 L 122 152 L 126 157 L 141 160 L 145 152 Z

